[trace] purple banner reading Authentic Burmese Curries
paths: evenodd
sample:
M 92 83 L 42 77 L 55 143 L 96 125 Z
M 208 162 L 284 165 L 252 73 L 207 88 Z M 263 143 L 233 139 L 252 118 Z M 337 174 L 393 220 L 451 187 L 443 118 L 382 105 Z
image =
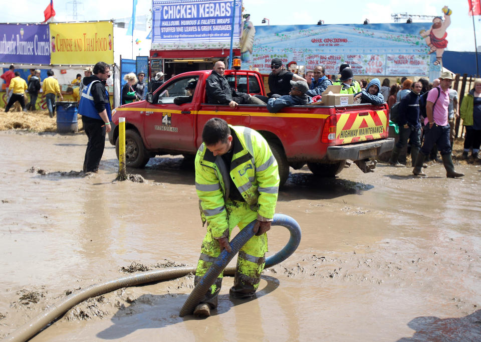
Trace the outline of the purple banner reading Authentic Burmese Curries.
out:
M 50 64 L 49 25 L 0 24 L 0 62 Z

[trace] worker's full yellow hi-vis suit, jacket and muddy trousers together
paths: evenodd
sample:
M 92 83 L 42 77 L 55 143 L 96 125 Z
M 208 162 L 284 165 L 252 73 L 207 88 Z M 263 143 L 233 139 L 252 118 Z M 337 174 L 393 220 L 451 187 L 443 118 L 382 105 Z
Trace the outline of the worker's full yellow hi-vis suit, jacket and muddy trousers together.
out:
M 250 128 L 229 127 L 234 142 L 230 170 L 226 169 L 222 158 L 214 156 L 204 144 L 195 157 L 195 188 L 202 223 L 207 222 L 195 283 L 220 254 L 218 238 L 230 237 L 235 226 L 242 230 L 256 219 L 272 219 L 275 213 L 279 171 L 267 141 Z M 230 179 L 244 201 L 229 198 Z M 248 297 L 255 293 L 264 269 L 266 252 L 266 234 L 254 236 L 239 251 L 231 296 Z M 212 308 L 217 306 L 221 281 L 222 274 L 202 300 Z

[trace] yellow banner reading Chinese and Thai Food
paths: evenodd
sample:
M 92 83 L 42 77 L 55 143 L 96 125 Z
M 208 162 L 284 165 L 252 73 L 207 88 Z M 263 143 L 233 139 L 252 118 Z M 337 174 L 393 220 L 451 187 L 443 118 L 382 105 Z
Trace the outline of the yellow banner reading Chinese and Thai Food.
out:
M 114 63 L 111 22 L 50 24 L 50 36 L 52 64 Z

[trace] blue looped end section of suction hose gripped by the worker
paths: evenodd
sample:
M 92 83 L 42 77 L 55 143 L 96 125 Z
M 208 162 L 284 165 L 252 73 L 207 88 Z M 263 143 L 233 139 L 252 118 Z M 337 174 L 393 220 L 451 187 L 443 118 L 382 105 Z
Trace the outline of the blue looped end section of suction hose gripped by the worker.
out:
M 205 295 L 205 292 L 207 292 L 210 285 L 214 283 L 220 272 L 222 272 L 224 267 L 230 262 L 230 260 L 232 260 L 235 254 L 237 254 L 239 249 L 242 248 L 242 246 L 244 246 L 246 242 L 248 242 L 249 239 L 254 236 L 252 229 L 255 223 L 256 221 L 251 222 L 242 231 L 240 231 L 232 239 L 232 241 L 230 241 L 230 247 L 232 248 L 230 253 L 228 253 L 225 249 L 220 252 L 217 259 L 212 263 L 204 276 L 199 280 L 195 288 L 190 293 L 190 296 L 180 309 L 180 317 L 192 314 L 195 306 L 200 303 Z M 286 227 L 289 229 L 291 237 L 287 245 L 282 250 L 266 259 L 266 268 L 286 260 L 292 253 L 294 253 L 297 246 L 299 246 L 299 243 L 301 242 L 301 228 L 292 217 L 283 214 L 275 214 L 272 225 Z

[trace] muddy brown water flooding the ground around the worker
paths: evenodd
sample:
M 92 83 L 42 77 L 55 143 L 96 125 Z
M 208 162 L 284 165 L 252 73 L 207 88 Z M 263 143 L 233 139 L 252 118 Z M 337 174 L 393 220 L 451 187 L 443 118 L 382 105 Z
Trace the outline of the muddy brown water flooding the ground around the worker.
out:
M 145 183 L 116 182 L 107 141 L 100 172 L 82 177 L 86 141 L 0 132 L 0 338 L 134 261 L 196 264 L 205 230 L 192 167 L 157 157 L 131 170 Z M 32 340 L 481 340 L 481 168 L 456 169 L 466 176 L 446 179 L 441 164 L 426 179 L 386 164 L 335 179 L 291 169 L 277 212 L 302 241 L 264 271 L 257 298 L 230 300 L 226 277 L 211 317 L 181 318 L 185 276 L 88 300 Z M 273 227 L 270 253 L 288 238 Z

